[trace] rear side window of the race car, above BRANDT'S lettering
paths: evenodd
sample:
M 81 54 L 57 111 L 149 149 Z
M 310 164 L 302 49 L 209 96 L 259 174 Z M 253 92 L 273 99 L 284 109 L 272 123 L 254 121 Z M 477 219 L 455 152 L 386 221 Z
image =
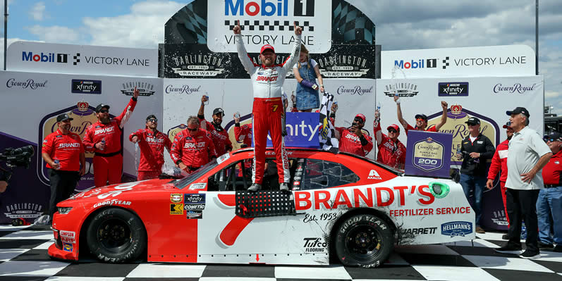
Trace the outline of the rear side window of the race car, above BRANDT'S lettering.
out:
M 293 190 L 338 187 L 358 181 L 359 176 L 340 163 L 300 158 L 293 178 Z

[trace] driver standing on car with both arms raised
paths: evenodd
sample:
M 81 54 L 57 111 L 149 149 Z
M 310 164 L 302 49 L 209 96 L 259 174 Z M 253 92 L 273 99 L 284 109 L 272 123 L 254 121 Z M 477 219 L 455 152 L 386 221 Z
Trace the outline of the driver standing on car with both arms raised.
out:
M 248 56 L 243 43 L 241 34 L 242 28 L 240 22 L 233 28 L 234 37 L 236 39 L 236 49 L 238 50 L 238 58 L 244 66 L 244 69 L 250 74 L 252 79 L 252 88 L 254 92 L 253 114 L 253 137 L 254 137 L 254 167 L 252 169 L 252 186 L 248 188 L 250 191 L 257 191 L 262 188 L 262 181 L 265 167 L 265 148 L 267 142 L 267 133 L 271 135 L 273 143 L 277 173 L 279 175 L 279 189 L 288 190 L 289 182 L 289 163 L 287 154 L 283 144 L 281 118 L 284 115 L 281 94 L 283 92 L 283 82 L 287 72 L 293 68 L 298 61 L 300 54 L 300 35 L 303 32 L 301 27 L 293 24 L 295 37 L 293 49 L 286 60 L 281 64 L 275 64 L 276 55 L 273 46 L 267 44 L 262 46 L 259 51 L 259 59 L 262 65 L 258 65 Z

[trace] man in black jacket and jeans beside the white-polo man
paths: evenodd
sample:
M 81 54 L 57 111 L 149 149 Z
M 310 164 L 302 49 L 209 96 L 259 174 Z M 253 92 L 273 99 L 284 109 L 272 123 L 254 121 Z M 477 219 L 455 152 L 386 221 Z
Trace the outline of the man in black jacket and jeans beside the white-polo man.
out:
M 465 196 L 470 202 L 470 192 L 474 190 L 474 204 L 470 204 L 476 213 L 476 232 L 484 233 L 480 227 L 482 218 L 482 194 L 486 187 L 488 159 L 494 156 L 494 144 L 490 139 L 480 133 L 480 120 L 476 117 L 468 118 L 465 122 L 468 125 L 470 134 L 463 139 L 461 144 L 461 154 L 458 158 L 463 158 L 463 165 L 460 166 L 460 185 L 463 186 Z

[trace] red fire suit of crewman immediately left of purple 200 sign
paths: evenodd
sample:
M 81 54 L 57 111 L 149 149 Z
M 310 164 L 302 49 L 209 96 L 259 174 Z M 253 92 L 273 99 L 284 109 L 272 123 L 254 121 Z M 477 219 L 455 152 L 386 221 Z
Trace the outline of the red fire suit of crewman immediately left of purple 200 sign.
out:
M 379 149 L 377 162 L 403 170 L 406 162 L 406 146 L 398 139 L 393 142 L 392 139 L 384 135 L 381 131 L 381 123 L 377 121 L 373 122 L 373 132 Z

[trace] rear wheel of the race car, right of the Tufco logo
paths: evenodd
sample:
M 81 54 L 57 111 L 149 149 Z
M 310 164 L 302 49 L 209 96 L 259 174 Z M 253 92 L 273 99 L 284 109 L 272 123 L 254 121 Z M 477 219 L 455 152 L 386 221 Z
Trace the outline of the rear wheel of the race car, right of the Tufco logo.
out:
M 347 218 L 336 232 L 336 255 L 344 266 L 380 266 L 389 258 L 393 248 L 393 230 L 388 223 L 374 215 Z

